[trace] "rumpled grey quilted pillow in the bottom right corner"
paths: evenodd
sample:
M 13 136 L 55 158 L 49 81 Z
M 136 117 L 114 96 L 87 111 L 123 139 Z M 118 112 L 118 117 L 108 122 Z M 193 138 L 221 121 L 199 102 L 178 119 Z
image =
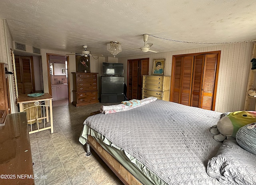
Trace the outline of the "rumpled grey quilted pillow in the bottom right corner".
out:
M 207 173 L 231 185 L 256 185 L 256 155 L 236 140 L 224 140 L 218 154 L 208 161 Z

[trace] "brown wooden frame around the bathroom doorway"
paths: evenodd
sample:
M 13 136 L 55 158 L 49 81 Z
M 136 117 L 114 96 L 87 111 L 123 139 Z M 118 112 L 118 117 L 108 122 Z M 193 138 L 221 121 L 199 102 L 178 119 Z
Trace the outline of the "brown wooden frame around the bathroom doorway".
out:
M 67 65 L 68 65 L 68 104 L 71 104 L 71 98 L 70 98 L 70 73 L 69 73 L 69 56 L 68 55 L 60 55 L 60 54 L 54 54 L 54 53 L 46 53 L 46 60 L 47 60 L 47 79 L 48 79 L 48 89 L 49 94 L 52 96 L 52 83 L 51 83 L 51 75 L 50 75 L 50 56 L 60 56 L 60 57 L 66 57 L 67 58 Z

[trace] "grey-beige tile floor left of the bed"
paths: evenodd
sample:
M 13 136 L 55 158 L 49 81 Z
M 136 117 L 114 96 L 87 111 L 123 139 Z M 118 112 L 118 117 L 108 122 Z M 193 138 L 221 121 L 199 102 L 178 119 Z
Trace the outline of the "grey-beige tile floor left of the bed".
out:
M 34 175 L 38 177 L 35 184 L 123 185 L 93 150 L 92 156 L 86 157 L 78 141 L 84 120 L 102 104 L 75 107 L 62 103 L 54 102 L 54 133 L 30 134 Z

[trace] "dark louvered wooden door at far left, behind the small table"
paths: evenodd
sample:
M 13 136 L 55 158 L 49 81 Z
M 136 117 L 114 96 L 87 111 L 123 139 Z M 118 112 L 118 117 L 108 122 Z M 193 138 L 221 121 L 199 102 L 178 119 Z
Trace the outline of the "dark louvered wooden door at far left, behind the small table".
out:
M 18 94 L 35 92 L 34 70 L 32 57 L 15 56 Z

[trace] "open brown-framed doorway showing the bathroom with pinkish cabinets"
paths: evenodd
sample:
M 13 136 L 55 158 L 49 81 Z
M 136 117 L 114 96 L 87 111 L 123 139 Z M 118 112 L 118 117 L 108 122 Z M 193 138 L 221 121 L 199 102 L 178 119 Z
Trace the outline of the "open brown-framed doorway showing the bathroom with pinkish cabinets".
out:
M 48 67 L 48 88 L 52 105 L 70 104 L 69 58 L 66 55 L 46 53 Z

